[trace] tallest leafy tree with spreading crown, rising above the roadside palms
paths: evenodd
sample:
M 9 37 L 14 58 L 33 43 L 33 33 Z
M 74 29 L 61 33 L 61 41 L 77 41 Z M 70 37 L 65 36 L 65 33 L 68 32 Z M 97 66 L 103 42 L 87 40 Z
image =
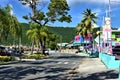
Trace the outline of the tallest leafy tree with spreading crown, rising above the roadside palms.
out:
M 67 1 L 66 0 L 50 0 L 50 3 L 48 5 L 48 11 L 42 11 L 42 9 L 39 9 L 38 5 L 42 4 L 40 3 L 40 0 L 19 0 L 22 2 L 23 5 L 29 5 L 29 7 L 32 10 L 31 15 L 24 16 L 25 19 L 34 21 L 35 23 L 38 23 L 40 27 L 44 27 L 47 23 L 54 23 L 55 21 L 60 22 L 71 22 L 71 16 L 68 15 L 68 11 L 70 10 Z M 41 44 L 41 48 L 44 53 L 45 48 L 45 35 L 42 38 L 39 38 L 39 42 Z

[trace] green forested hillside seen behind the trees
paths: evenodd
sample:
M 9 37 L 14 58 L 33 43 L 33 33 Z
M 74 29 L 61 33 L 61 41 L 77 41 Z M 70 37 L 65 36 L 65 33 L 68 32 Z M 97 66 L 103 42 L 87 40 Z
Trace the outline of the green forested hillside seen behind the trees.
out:
M 31 41 L 28 40 L 28 37 L 26 36 L 26 32 L 27 30 L 29 29 L 29 25 L 26 24 L 26 23 L 21 23 L 21 27 L 22 27 L 22 44 L 23 45 L 30 45 L 31 44 Z M 96 28 L 94 29 L 93 32 L 96 32 L 98 31 L 100 28 Z M 75 27 L 48 27 L 48 30 L 49 32 L 52 32 L 52 33 L 55 33 L 57 34 L 59 37 L 62 38 L 61 39 L 58 39 L 57 42 L 60 43 L 61 41 L 62 42 L 70 42 L 72 40 L 74 40 L 74 36 L 76 35 L 75 33 Z M 96 36 L 96 35 L 94 35 Z M 12 36 L 9 36 L 8 37 L 8 40 L 7 41 L 3 41 L 2 44 L 13 44 L 13 41 L 14 39 L 12 38 Z M 16 41 L 18 42 L 18 41 Z

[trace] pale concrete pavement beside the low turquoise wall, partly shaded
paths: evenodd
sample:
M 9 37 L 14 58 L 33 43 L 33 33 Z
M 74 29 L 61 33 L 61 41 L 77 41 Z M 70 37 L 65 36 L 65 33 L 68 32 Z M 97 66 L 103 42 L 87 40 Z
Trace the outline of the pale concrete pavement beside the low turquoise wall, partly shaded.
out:
M 79 56 L 85 56 L 78 54 Z M 83 57 L 77 68 L 78 74 L 73 78 L 78 80 L 118 80 L 118 69 L 107 69 L 99 58 Z M 73 79 L 73 80 L 74 80 Z

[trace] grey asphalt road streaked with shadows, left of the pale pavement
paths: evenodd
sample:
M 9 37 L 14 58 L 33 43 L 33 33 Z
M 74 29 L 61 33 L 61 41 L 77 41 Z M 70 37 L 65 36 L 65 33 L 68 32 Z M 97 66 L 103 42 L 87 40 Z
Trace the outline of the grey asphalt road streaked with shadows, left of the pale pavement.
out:
M 81 59 L 73 54 L 52 53 L 47 59 L 0 65 L 0 80 L 68 80 L 66 73 Z

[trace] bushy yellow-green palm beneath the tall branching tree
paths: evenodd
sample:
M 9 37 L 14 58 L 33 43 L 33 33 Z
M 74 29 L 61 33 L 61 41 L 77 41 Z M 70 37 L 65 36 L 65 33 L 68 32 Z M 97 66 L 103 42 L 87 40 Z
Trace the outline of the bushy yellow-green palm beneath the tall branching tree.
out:
M 46 40 L 48 37 L 47 27 L 39 27 L 37 23 L 31 23 L 31 29 L 28 30 L 26 34 L 28 35 L 28 38 L 32 41 L 32 52 L 34 49 L 34 44 L 38 45 L 38 47 L 41 47 L 41 49 L 43 47 L 46 47 L 43 45 L 46 45 Z

